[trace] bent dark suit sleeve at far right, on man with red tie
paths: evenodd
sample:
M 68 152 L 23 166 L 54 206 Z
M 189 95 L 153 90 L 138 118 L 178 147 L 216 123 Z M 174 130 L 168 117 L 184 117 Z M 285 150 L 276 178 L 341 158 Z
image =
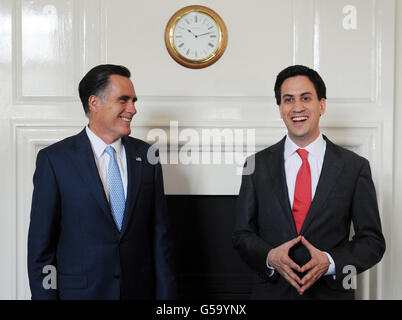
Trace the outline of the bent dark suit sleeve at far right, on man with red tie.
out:
M 371 268 L 385 252 L 376 192 L 367 160 L 364 160 L 357 179 L 351 210 L 355 232 L 352 240 L 328 250 L 335 261 L 337 279 L 348 274 L 343 270 L 346 266 L 355 267 L 357 273 Z

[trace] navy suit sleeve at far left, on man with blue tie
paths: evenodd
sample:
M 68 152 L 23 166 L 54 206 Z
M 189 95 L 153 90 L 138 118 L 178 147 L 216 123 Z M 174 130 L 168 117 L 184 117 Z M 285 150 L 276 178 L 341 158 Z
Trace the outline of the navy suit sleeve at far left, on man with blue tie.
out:
M 28 231 L 28 276 L 32 299 L 58 299 L 57 289 L 43 286 L 43 268 L 56 267 L 60 232 L 60 197 L 56 177 L 45 151 L 36 159 L 31 219 Z

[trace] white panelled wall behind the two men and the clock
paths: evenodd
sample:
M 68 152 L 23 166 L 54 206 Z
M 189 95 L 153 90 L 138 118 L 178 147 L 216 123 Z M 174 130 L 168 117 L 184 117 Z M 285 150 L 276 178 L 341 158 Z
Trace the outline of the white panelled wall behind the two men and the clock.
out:
M 179 131 L 255 129 L 257 149 L 286 132 L 273 96 L 276 74 L 296 63 L 318 70 L 328 88 L 322 131 L 370 160 L 388 245 L 379 266 L 359 277 L 359 297 L 401 299 L 401 4 L 395 11 L 393 0 L 197 3 L 217 11 L 229 33 L 223 57 L 201 70 L 174 62 L 163 40 L 170 16 L 191 1 L 0 0 L 0 298 L 29 298 L 36 153 L 85 125 L 78 82 L 108 62 L 132 71 L 139 96 L 133 135 L 169 132 L 176 120 Z M 356 30 L 344 28 L 346 5 L 356 8 Z M 234 167 L 166 165 L 166 190 L 236 194 Z

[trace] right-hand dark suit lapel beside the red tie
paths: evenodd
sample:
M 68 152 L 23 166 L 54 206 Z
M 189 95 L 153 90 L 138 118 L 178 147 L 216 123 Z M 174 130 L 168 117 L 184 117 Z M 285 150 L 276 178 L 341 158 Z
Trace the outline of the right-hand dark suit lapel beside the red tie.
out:
M 327 200 L 344 166 L 343 159 L 339 156 L 336 146 L 327 137 L 324 136 L 324 139 L 327 142 L 324 162 L 314 199 L 311 202 L 310 209 L 307 213 L 302 229 L 300 230 L 301 234 L 307 230 L 311 221 L 314 219 L 314 216 L 320 212 L 320 208 Z

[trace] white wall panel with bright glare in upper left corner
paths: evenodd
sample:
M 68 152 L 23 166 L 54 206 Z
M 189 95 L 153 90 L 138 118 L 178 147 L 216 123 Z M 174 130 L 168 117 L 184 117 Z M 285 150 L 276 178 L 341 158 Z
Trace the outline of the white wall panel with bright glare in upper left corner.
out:
M 75 95 L 77 15 L 74 1 L 17 1 L 21 97 Z

